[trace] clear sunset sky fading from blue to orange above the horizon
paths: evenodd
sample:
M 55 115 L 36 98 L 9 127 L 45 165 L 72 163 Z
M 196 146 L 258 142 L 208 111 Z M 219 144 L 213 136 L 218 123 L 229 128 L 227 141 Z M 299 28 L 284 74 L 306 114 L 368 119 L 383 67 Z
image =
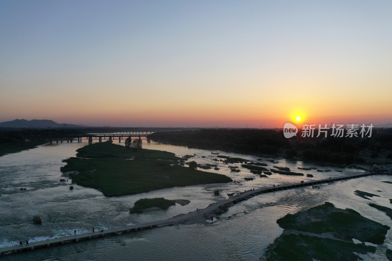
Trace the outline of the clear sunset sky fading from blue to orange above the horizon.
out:
M 390 0 L 1 0 L 0 122 L 392 122 Z

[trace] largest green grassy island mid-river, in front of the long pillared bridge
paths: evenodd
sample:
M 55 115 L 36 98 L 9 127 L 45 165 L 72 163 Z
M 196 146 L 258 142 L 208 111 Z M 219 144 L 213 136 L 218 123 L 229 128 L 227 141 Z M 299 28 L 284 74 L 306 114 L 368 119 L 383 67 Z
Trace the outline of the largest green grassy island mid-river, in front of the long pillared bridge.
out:
M 171 152 L 126 149 L 101 142 L 77 150 L 76 158 L 63 160 L 62 172 L 70 172 L 73 182 L 102 191 L 105 196 L 121 196 L 172 187 L 225 183 L 229 177 L 178 165 Z

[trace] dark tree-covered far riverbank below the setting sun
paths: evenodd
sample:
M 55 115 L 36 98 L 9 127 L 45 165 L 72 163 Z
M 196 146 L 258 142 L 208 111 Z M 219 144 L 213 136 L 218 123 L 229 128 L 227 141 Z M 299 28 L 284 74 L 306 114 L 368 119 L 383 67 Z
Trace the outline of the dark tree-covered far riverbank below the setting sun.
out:
M 150 138 L 157 142 L 188 146 L 193 148 L 222 150 L 261 157 L 283 156 L 321 164 L 350 165 L 366 163 L 372 165 L 391 164 L 390 143 L 385 137 L 392 137 L 392 130 L 373 134 L 371 140 L 365 138 L 317 139 L 293 137 L 288 140 L 282 130 L 275 129 L 203 129 L 196 131 L 156 132 Z M 290 141 L 290 142 L 288 142 Z M 379 144 L 383 144 L 382 146 Z M 378 144 L 378 145 L 377 145 Z M 380 153 L 371 153 L 374 147 Z M 366 156 L 366 157 L 365 157 Z

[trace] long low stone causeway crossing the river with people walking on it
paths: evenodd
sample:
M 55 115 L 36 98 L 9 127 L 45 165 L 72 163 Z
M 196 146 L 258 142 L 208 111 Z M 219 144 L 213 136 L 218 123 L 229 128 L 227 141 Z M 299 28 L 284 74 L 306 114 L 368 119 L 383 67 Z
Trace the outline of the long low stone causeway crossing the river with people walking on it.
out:
M 288 190 L 288 189 L 294 189 L 294 188 L 300 188 L 300 187 L 306 187 L 306 186 L 313 186 L 313 185 L 317 185 L 317 184 L 331 183 L 331 182 L 335 182 L 335 181 L 342 181 L 342 180 L 348 180 L 348 179 L 360 178 L 360 177 L 366 177 L 366 176 L 378 175 L 378 174 L 391 175 L 391 173 L 365 172 L 364 174 L 354 174 L 354 175 L 348 175 L 348 176 L 343 176 L 343 177 L 306 181 L 304 183 L 290 183 L 290 184 L 284 184 L 284 185 L 280 185 L 280 186 L 260 188 L 260 189 L 256 189 L 256 190 L 248 190 L 248 191 L 244 191 L 236 196 L 229 197 L 228 199 L 224 199 L 224 200 L 218 201 L 216 203 L 212 203 L 204 209 L 199 209 L 198 211 L 189 212 L 187 214 L 179 214 L 179 215 L 176 215 L 171 218 L 164 219 L 164 220 L 157 220 L 157 221 L 137 224 L 134 226 L 126 226 L 126 227 L 114 228 L 114 229 L 109 229 L 109 230 L 104 230 L 104 231 L 102 230 L 102 231 L 95 232 L 95 233 L 85 233 L 85 234 L 80 234 L 80 235 L 72 235 L 72 236 L 67 236 L 67 237 L 58 237 L 58 238 L 54 238 L 54 239 L 48 239 L 48 240 L 44 240 L 44 241 L 31 242 L 31 243 L 29 243 L 28 246 L 15 245 L 15 246 L 10 246 L 10 247 L 3 247 L 3 248 L 0 248 L 0 256 L 3 254 L 21 253 L 23 251 L 31 251 L 31 250 L 34 250 L 37 248 L 45 248 L 45 247 L 50 247 L 50 246 L 54 246 L 54 245 L 61 245 L 61 244 L 65 244 L 65 243 L 75 243 L 75 242 L 79 242 L 81 240 L 94 239 L 94 238 L 105 237 L 105 236 L 109 236 L 109 235 L 111 235 L 111 236 L 121 235 L 123 233 L 131 233 L 131 232 L 140 231 L 143 229 L 152 229 L 152 228 L 157 228 L 157 227 L 172 226 L 175 224 L 200 223 L 200 220 L 205 221 L 206 219 L 216 217 L 216 216 L 226 212 L 229 209 L 229 207 L 234 206 L 234 204 L 239 203 L 243 200 L 247 200 L 251 197 L 263 194 L 263 193 L 269 193 L 269 192 L 278 191 L 278 190 Z

